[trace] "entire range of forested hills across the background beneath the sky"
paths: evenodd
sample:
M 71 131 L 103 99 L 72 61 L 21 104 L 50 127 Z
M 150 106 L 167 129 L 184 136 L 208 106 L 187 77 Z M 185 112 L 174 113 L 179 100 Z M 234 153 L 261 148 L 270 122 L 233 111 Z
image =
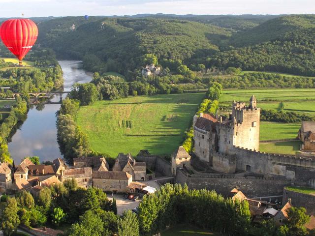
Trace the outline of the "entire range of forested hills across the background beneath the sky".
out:
M 314 15 L 80 16 L 42 20 L 38 28 L 37 45 L 59 58 L 82 59 L 90 71 L 135 78 L 143 55 L 154 54 L 162 66 L 165 59 L 182 60 L 190 70 L 240 67 L 315 76 Z

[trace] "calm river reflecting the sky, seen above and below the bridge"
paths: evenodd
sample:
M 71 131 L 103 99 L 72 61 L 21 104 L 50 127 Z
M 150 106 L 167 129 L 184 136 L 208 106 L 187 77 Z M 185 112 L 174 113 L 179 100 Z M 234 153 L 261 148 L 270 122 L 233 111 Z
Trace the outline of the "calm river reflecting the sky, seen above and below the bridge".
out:
M 92 74 L 85 72 L 81 61 L 60 60 L 63 69 L 64 91 L 70 91 L 76 83 L 86 83 L 92 80 Z M 41 105 L 41 109 L 33 106 L 28 118 L 13 135 L 8 144 L 11 157 L 16 165 L 25 156 L 39 156 L 40 162 L 52 161 L 63 155 L 57 143 L 56 112 L 60 104 Z

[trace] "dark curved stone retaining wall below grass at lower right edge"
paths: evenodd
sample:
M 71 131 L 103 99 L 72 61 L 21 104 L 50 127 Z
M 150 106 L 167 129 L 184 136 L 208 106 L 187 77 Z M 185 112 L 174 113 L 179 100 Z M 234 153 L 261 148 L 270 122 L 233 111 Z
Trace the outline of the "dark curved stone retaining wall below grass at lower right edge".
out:
M 315 214 L 315 196 L 297 193 L 286 188 L 284 188 L 283 195 L 283 203 L 286 203 L 288 198 L 291 198 L 293 207 L 305 207 L 308 214 Z

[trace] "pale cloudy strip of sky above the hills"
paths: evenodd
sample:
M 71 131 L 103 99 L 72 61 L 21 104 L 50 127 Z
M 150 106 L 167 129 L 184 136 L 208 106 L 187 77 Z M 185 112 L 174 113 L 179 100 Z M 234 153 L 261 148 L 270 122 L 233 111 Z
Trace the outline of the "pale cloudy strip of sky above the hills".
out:
M 0 0 L 1 17 L 311 14 L 314 0 Z

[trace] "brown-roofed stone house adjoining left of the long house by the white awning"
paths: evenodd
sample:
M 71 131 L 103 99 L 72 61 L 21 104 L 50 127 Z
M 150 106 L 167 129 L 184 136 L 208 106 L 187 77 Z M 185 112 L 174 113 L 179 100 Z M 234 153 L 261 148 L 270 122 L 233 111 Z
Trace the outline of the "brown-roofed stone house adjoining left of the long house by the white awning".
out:
M 66 179 L 74 178 L 80 187 L 88 188 L 92 186 L 92 168 L 82 167 L 64 170 L 61 176 L 62 182 Z

